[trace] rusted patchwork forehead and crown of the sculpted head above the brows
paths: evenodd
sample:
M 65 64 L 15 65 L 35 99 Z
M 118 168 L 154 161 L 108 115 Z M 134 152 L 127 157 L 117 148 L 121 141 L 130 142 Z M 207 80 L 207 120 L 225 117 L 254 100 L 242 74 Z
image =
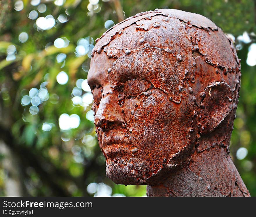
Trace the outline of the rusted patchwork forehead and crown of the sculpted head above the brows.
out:
M 129 79 L 144 79 L 174 102 L 181 101 L 179 92 L 184 83 L 193 85 L 199 57 L 207 68 L 213 66 L 220 71 L 232 71 L 239 63 L 221 29 L 202 15 L 180 10 L 136 14 L 114 25 L 96 41 L 89 83 L 101 79 L 115 87 Z M 215 72 L 201 76 L 211 77 L 209 83 L 203 82 L 203 88 L 219 81 Z

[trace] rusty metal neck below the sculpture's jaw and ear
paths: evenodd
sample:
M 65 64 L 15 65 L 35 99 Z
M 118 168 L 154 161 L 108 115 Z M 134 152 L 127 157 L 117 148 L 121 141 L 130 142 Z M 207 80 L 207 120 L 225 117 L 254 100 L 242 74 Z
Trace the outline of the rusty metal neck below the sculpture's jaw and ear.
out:
M 250 196 L 223 147 L 195 152 L 189 159 L 159 185 L 147 186 L 147 196 Z

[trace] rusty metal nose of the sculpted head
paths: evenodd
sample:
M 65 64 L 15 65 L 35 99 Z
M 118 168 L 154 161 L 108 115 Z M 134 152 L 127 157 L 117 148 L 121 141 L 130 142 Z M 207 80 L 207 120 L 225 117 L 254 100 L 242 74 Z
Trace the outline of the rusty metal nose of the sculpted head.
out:
M 99 108 L 94 116 L 94 124 L 102 129 L 121 126 L 125 123 L 123 114 L 113 95 L 107 95 L 100 101 Z

